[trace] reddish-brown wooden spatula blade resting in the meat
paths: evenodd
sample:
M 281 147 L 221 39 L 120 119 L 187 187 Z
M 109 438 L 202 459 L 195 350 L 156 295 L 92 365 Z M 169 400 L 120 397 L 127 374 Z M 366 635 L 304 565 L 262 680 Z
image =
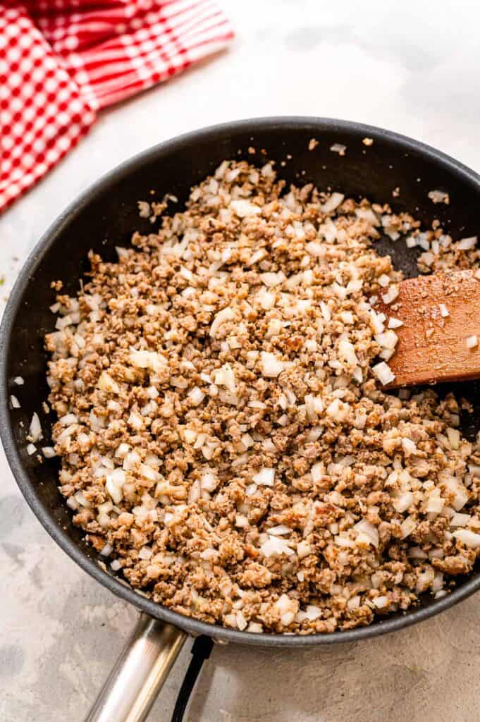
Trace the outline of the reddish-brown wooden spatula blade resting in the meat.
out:
M 398 290 L 390 304 L 380 294 L 375 307 L 403 322 L 394 329 L 398 344 L 388 365 L 396 378 L 388 388 L 480 378 L 479 271 L 419 276 Z

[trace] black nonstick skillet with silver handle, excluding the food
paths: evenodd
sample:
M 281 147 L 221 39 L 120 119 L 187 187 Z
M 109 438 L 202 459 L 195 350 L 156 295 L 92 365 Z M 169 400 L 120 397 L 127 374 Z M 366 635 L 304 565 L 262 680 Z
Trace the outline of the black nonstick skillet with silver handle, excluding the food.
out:
M 365 137 L 373 139 L 373 144 L 363 144 Z M 318 145 L 310 151 L 312 138 Z M 335 143 L 346 146 L 344 156 L 331 151 Z M 255 155 L 249 154 L 249 147 L 256 149 Z M 439 151 L 360 123 L 261 118 L 193 131 L 141 153 L 95 183 L 45 233 L 19 274 L 1 324 L 1 439 L 22 494 L 48 533 L 82 569 L 144 613 L 87 718 L 90 722 L 139 722 L 146 718 L 187 635 L 263 647 L 352 642 L 427 619 L 480 587 L 477 567 L 442 599 L 425 596 L 406 614 L 330 635 L 256 635 L 214 627 L 154 604 L 105 570 L 99 564 L 102 558 L 71 523 L 71 514 L 57 490 L 58 460 L 45 460 L 40 465 L 34 456 L 27 455 L 25 430 L 33 412 L 40 415 L 45 443 L 49 442 L 51 418 L 42 411 L 41 402 L 48 396 L 43 337 L 54 323 L 48 310 L 54 300 L 51 281 L 63 279 L 66 292 L 74 295 L 87 270 L 90 248 L 113 260 L 115 245 L 127 244 L 134 230 L 151 228 L 148 221 L 139 218 L 137 200 L 161 199 L 164 193 L 173 193 L 181 206 L 193 184 L 225 158 L 234 157 L 258 164 L 274 160 L 280 175 L 289 182 L 313 181 L 320 188 L 339 189 L 357 198 L 367 195 L 372 201 L 389 201 L 396 211 L 412 212 L 427 225 L 438 218 L 454 237 L 475 235 L 478 230 L 480 176 Z M 397 187 L 400 193 L 393 197 Z M 428 198 L 434 189 L 448 191 L 450 205 L 434 205 Z M 414 252 L 403 241 L 383 239 L 379 248 L 382 253 L 391 253 L 396 266 L 407 275 L 415 274 Z M 25 379 L 25 386 L 13 385 L 18 375 Z M 474 435 L 480 427 L 480 386 L 457 385 L 455 392 L 474 404 L 473 417 L 464 419 L 463 425 L 463 432 Z M 11 393 L 19 396 L 20 409 L 9 408 Z

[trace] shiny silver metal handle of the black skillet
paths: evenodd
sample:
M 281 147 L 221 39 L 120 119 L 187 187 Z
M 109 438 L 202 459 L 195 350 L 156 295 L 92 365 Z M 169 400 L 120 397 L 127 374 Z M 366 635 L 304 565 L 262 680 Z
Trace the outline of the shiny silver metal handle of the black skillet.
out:
M 187 635 L 141 614 L 84 722 L 143 722 Z

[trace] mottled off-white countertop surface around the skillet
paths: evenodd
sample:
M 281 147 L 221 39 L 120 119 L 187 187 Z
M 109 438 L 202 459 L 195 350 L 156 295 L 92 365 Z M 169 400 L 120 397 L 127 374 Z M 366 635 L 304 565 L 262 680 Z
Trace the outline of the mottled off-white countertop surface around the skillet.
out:
M 422 139 L 480 170 L 480 12 L 473 1 L 459 0 L 455 9 L 423 0 L 222 4 L 237 30 L 229 51 L 103 113 L 77 149 L 0 217 L 1 295 L 79 191 L 141 149 L 211 123 L 348 118 Z M 19 495 L 3 452 L 0 464 L 0 719 L 81 721 L 136 612 L 56 547 Z M 188 646 L 153 722 L 170 718 Z M 410 630 L 354 646 L 217 647 L 186 718 L 473 722 L 479 675 L 477 595 Z

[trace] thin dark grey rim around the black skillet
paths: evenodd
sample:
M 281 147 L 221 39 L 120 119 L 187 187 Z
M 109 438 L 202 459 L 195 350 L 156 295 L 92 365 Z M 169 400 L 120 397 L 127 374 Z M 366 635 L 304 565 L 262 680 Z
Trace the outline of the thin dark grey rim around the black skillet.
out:
M 188 131 L 180 136 L 167 139 L 165 142 L 156 144 L 153 147 L 140 152 L 129 158 L 120 165 L 108 171 L 100 177 L 98 181 L 92 183 L 86 190 L 79 194 L 77 199 L 71 201 L 58 218 L 48 227 L 48 230 L 42 235 L 38 243 L 30 252 L 25 264 L 14 284 L 10 293 L 8 303 L 4 310 L 4 316 L 0 326 L 0 438 L 4 445 L 4 451 L 10 469 L 14 475 L 22 495 L 25 497 L 32 512 L 38 518 L 44 529 L 50 534 L 53 541 L 56 541 L 59 547 L 64 550 L 79 567 L 87 572 L 97 582 L 108 588 L 109 591 L 116 596 L 136 606 L 151 617 L 161 619 L 175 627 L 178 627 L 192 635 L 207 635 L 215 640 L 224 642 L 235 642 L 246 645 L 256 645 L 262 647 L 310 647 L 313 645 L 333 645 L 337 643 L 352 643 L 367 638 L 383 635 L 388 632 L 409 627 L 418 622 L 422 622 L 435 614 L 449 609 L 451 606 L 458 604 L 459 601 L 466 599 L 480 588 L 480 573 L 476 578 L 467 580 L 460 588 L 456 588 L 447 596 L 432 601 L 429 606 L 422 609 L 414 609 L 405 612 L 403 616 L 386 618 L 375 621 L 367 627 L 357 627 L 353 630 L 336 631 L 328 634 L 316 635 L 282 635 L 282 634 L 254 634 L 252 632 L 240 632 L 230 630 L 226 627 L 211 625 L 201 622 L 191 617 L 185 617 L 179 612 L 172 612 L 160 604 L 147 599 L 133 588 L 125 586 L 118 578 L 110 575 L 102 570 L 102 568 L 89 557 L 84 554 L 79 544 L 71 541 L 61 525 L 53 518 L 51 512 L 39 500 L 35 486 L 30 481 L 30 477 L 25 470 L 19 457 L 17 445 L 14 441 L 12 430 L 12 419 L 9 413 L 9 389 L 8 389 L 8 365 L 9 349 L 12 342 L 12 331 L 14 320 L 22 303 L 22 298 L 27 287 L 30 277 L 37 269 L 42 261 L 45 253 L 54 245 L 58 235 L 69 225 L 74 222 L 75 217 L 87 206 L 99 191 L 104 191 L 111 183 L 124 178 L 128 173 L 133 173 L 141 169 L 145 162 L 150 162 L 154 158 L 160 160 L 162 156 L 168 155 L 170 152 L 182 149 L 183 147 L 194 145 L 198 139 L 215 137 L 230 131 L 232 134 L 251 133 L 258 131 L 283 129 L 287 134 L 292 130 L 302 129 L 304 131 L 312 131 L 319 133 L 321 131 L 336 131 L 348 133 L 350 136 L 370 136 L 373 139 L 382 139 L 392 145 L 400 147 L 405 152 L 415 152 L 422 155 L 429 162 L 435 162 L 442 165 L 452 175 L 455 175 L 463 183 L 473 186 L 474 191 L 479 193 L 480 197 L 480 175 L 463 163 L 445 155 L 445 153 L 432 148 L 422 142 L 416 141 L 376 126 L 357 123 L 355 121 L 343 121 L 335 118 L 321 118 L 315 116 L 273 116 L 263 118 L 247 118 L 245 120 L 233 121 L 227 123 L 219 123 L 214 126 L 206 126 L 202 129 Z

